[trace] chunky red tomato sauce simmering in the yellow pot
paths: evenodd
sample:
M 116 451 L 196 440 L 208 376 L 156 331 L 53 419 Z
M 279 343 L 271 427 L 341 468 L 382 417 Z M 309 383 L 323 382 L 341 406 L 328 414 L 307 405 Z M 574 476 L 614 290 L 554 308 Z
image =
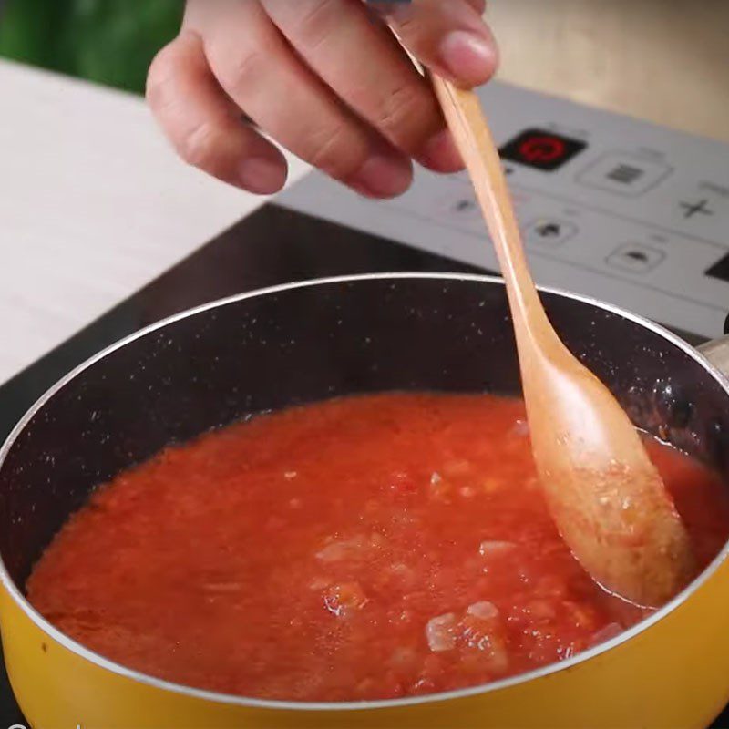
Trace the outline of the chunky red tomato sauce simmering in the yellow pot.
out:
M 649 447 L 705 566 L 727 539 L 727 491 Z M 523 404 L 491 395 L 344 398 L 170 447 L 98 489 L 27 593 L 133 669 L 299 701 L 485 683 L 647 614 L 573 559 Z

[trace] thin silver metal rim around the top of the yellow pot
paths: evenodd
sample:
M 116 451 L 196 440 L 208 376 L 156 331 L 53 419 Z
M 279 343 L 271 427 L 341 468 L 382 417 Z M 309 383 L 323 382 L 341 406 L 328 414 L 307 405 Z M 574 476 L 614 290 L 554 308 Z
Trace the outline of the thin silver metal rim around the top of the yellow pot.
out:
M 114 344 L 110 344 L 97 354 L 89 357 L 84 363 L 78 364 L 73 370 L 67 375 L 64 375 L 60 380 L 52 385 L 46 392 L 41 395 L 33 406 L 30 406 L 26 411 L 26 414 L 18 421 L 13 428 L 12 432 L 5 439 L 5 443 L 0 447 L 0 470 L 5 463 L 5 458 L 9 453 L 10 449 L 15 444 L 15 440 L 20 433 L 26 428 L 28 423 L 34 416 L 46 405 L 46 403 L 56 395 L 60 389 L 66 386 L 71 380 L 75 379 L 78 375 L 84 373 L 93 364 L 107 357 L 109 354 L 113 354 L 116 350 L 121 349 L 127 344 L 151 333 L 158 329 L 163 329 L 171 323 L 178 322 L 182 319 L 187 319 L 190 316 L 195 316 L 198 313 L 208 311 L 210 309 L 217 309 L 221 306 L 226 306 L 230 303 L 238 303 L 245 299 L 257 298 L 260 296 L 267 296 L 273 293 L 282 293 L 293 289 L 308 288 L 313 286 L 322 286 L 332 283 L 349 283 L 349 282 L 360 282 L 360 281 L 376 281 L 376 280 L 404 280 L 404 279 L 424 279 L 433 281 L 443 282 L 480 282 L 504 285 L 504 280 L 499 276 L 488 276 L 479 275 L 472 273 L 452 273 L 452 272 L 385 272 L 385 273 L 363 273 L 345 276 L 330 276 L 318 279 L 310 279 L 300 282 L 283 283 L 276 286 L 269 286 L 263 289 L 257 289 L 252 292 L 237 293 L 232 296 L 227 296 L 222 299 L 218 299 L 213 302 L 204 303 L 200 306 L 193 307 L 184 312 L 173 314 L 172 316 L 162 319 L 159 322 L 149 324 L 149 326 L 140 329 L 138 332 L 129 334 L 128 336 L 120 339 Z M 722 386 L 724 392 L 729 396 L 729 377 L 724 375 L 717 367 L 714 366 L 709 360 L 707 360 L 703 354 L 698 352 L 690 344 L 686 343 L 676 334 L 670 332 L 660 324 L 654 323 L 639 314 L 631 313 L 620 306 L 616 306 L 611 303 L 602 302 L 599 299 L 594 299 L 590 296 L 585 296 L 579 293 L 571 293 L 564 291 L 559 288 L 553 288 L 549 286 L 538 286 L 540 293 L 551 293 L 562 298 L 570 299 L 572 301 L 580 303 L 588 303 L 603 311 L 615 313 L 624 319 L 627 319 L 633 323 L 640 324 L 643 328 L 652 331 L 654 334 L 659 334 L 662 338 L 668 341 L 673 346 L 682 350 L 684 354 L 690 356 L 698 364 L 701 364 L 703 368 L 714 377 L 719 385 Z M 510 676 L 499 681 L 491 683 L 482 683 L 477 686 L 468 686 L 467 688 L 457 689 L 441 693 L 429 693 L 423 696 L 409 696 L 406 698 L 399 699 L 381 699 L 376 701 L 350 701 L 350 702 L 294 702 L 294 701 L 277 701 L 269 699 L 256 699 L 252 697 L 240 696 L 231 693 L 219 693 L 215 691 L 209 691 L 206 689 L 194 688 L 192 686 L 186 686 L 181 683 L 173 683 L 164 679 L 155 678 L 154 676 L 146 673 L 141 673 L 133 669 L 129 669 L 120 663 L 114 662 L 105 658 L 104 656 L 87 649 L 81 643 L 78 643 L 69 638 L 64 632 L 59 631 L 52 623 L 46 621 L 46 619 L 26 600 L 21 590 L 15 584 L 5 568 L 5 561 L 0 556 L 0 587 L 4 588 L 10 598 L 15 602 L 15 605 L 20 608 L 26 614 L 26 617 L 35 623 L 36 627 L 41 631 L 44 631 L 49 639 L 58 643 L 59 645 L 66 648 L 68 651 L 77 654 L 80 658 L 87 660 L 99 668 L 116 673 L 118 676 L 131 679 L 139 683 L 148 685 L 149 687 L 166 691 L 170 693 L 180 693 L 190 698 L 198 698 L 200 700 L 221 703 L 221 704 L 232 704 L 239 706 L 248 706 L 252 708 L 272 709 L 279 711 L 362 711 L 362 710 L 374 710 L 374 709 L 386 709 L 386 708 L 401 708 L 421 703 L 432 703 L 441 702 L 449 699 L 466 698 L 469 696 L 475 696 L 481 693 L 497 692 L 501 689 L 508 689 L 512 686 L 519 685 L 520 683 L 527 683 L 534 681 L 539 678 L 543 678 L 551 675 L 552 673 L 559 673 L 567 671 L 573 666 L 579 665 L 582 662 L 590 661 L 601 653 L 611 651 L 613 648 L 621 645 L 624 642 L 630 641 L 633 637 L 639 635 L 643 631 L 648 630 L 658 621 L 661 621 L 669 613 L 673 612 L 676 608 L 683 604 L 684 601 L 688 600 L 693 593 L 698 590 L 704 582 L 709 580 L 716 570 L 718 570 L 721 563 L 729 555 L 729 541 L 724 544 L 724 548 L 714 557 L 714 560 L 702 571 L 702 573 L 693 580 L 684 590 L 676 595 L 671 601 L 666 603 L 660 610 L 654 612 L 649 618 L 638 622 L 627 631 L 621 632 L 618 636 L 612 638 L 610 641 L 600 643 L 597 646 L 590 648 L 587 651 L 578 653 L 577 655 L 569 658 L 565 661 L 549 663 L 549 665 L 542 666 L 534 671 L 526 673 L 519 673 L 515 676 Z

